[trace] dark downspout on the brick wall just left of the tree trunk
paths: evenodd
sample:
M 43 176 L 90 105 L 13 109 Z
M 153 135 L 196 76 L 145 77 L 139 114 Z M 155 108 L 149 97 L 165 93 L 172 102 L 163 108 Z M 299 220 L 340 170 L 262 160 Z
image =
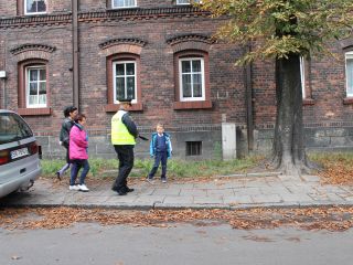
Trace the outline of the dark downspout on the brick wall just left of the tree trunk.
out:
M 252 51 L 250 44 L 245 46 L 245 53 Z M 254 150 L 254 117 L 253 117 L 253 63 L 244 67 L 245 78 L 245 102 L 246 102 L 246 129 L 247 129 L 247 149 Z

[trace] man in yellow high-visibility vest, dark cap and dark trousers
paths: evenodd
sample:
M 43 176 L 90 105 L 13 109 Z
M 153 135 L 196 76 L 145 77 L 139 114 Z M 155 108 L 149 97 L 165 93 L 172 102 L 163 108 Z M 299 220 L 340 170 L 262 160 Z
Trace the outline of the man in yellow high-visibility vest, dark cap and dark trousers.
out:
M 127 178 L 133 167 L 133 147 L 138 130 L 130 118 L 128 110 L 131 108 L 131 99 L 120 99 L 120 109 L 111 118 L 111 144 L 119 159 L 119 173 L 113 190 L 119 195 L 126 195 L 133 191 L 127 186 Z

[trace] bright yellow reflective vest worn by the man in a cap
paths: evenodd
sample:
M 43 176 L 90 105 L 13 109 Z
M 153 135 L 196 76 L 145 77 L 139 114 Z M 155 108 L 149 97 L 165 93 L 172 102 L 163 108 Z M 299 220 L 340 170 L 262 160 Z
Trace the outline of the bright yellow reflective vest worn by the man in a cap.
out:
M 121 118 L 127 112 L 119 110 L 111 118 L 111 144 L 113 145 L 136 145 L 135 137 L 129 132 Z

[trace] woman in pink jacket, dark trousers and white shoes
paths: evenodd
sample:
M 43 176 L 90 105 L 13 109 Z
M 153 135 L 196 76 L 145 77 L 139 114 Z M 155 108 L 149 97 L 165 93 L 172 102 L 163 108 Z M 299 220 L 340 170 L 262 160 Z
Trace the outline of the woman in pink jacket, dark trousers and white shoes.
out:
M 84 129 L 86 116 L 78 114 L 75 124 L 69 131 L 69 160 L 72 162 L 69 190 L 89 191 L 85 184 L 86 176 L 89 171 L 88 163 L 88 135 Z M 76 178 L 79 169 L 83 168 L 79 177 L 79 183 L 76 184 Z

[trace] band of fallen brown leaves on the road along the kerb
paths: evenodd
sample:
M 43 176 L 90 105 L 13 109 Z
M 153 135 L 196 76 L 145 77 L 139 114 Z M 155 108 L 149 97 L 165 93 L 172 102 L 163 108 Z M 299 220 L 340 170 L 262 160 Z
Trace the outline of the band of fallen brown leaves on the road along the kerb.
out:
M 234 229 L 275 229 L 295 226 L 304 230 L 344 231 L 353 227 L 353 208 L 248 209 L 248 210 L 150 210 L 36 208 L 2 209 L 0 226 L 17 229 L 61 229 L 79 222 L 100 225 L 169 227 L 175 223 L 200 221 L 228 223 Z

